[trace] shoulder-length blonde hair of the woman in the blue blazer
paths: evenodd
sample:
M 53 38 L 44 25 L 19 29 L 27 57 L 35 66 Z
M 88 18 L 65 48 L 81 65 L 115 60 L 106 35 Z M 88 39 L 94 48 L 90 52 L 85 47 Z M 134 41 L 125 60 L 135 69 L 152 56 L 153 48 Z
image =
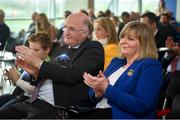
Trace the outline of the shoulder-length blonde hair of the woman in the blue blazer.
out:
M 128 36 L 129 31 L 135 31 L 140 43 L 139 59 L 158 58 L 153 31 L 150 26 L 138 21 L 132 21 L 125 25 L 120 33 L 120 38 Z M 122 56 L 123 57 L 123 56 Z

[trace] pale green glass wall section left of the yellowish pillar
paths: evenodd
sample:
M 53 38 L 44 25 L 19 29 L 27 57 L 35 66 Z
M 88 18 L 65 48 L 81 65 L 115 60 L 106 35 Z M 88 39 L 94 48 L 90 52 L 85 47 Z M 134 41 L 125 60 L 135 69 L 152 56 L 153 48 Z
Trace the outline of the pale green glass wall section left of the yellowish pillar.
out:
M 87 0 L 0 0 L 0 9 L 6 13 L 6 23 L 11 31 L 27 30 L 33 11 L 45 13 L 56 27 L 63 22 L 65 10 L 72 12 L 87 9 Z M 73 2 L 73 3 L 72 3 Z M 79 7 L 81 6 L 81 8 Z

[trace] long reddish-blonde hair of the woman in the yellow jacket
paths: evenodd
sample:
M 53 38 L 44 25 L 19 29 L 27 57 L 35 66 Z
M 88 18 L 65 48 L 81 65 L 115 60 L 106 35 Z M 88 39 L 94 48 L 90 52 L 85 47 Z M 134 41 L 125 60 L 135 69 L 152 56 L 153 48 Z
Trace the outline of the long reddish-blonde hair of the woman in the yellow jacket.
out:
M 94 22 L 97 22 L 108 33 L 107 44 L 118 43 L 115 27 L 108 17 L 100 17 Z

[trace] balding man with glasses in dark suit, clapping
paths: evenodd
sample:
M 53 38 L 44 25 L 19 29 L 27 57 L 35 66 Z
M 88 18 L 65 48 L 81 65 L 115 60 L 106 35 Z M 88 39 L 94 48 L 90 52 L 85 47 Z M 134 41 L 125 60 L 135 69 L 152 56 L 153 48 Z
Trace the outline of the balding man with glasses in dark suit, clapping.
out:
M 60 51 L 57 49 L 58 54 L 55 54 L 51 63 L 40 60 L 36 57 L 36 52 L 25 46 L 16 47 L 17 56 L 20 57 L 17 65 L 34 76 L 33 84 L 42 79 L 52 80 L 52 88 L 48 89 L 44 84 L 41 87 L 48 91 L 49 96 L 53 95 L 54 101 L 47 102 L 48 99 L 43 99 L 43 95 L 38 94 L 38 99 L 32 103 L 26 100 L 0 111 L 0 118 L 55 118 L 54 105 L 66 108 L 93 106 L 88 97 L 89 87 L 83 82 L 83 73 L 97 75 L 103 69 L 103 47 L 99 42 L 89 39 L 92 25 L 88 16 L 83 13 L 71 14 L 66 19 L 63 30 L 67 46 Z

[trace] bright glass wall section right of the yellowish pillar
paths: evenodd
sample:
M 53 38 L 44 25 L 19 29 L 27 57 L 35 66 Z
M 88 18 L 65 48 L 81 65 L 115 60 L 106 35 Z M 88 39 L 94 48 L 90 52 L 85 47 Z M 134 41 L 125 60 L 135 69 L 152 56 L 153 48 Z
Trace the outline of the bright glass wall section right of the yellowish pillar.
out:
M 95 0 L 94 8 L 96 14 L 100 10 L 106 11 L 108 8 L 116 16 L 120 16 L 123 11 L 144 13 L 148 10 L 156 12 L 157 6 L 158 0 Z

